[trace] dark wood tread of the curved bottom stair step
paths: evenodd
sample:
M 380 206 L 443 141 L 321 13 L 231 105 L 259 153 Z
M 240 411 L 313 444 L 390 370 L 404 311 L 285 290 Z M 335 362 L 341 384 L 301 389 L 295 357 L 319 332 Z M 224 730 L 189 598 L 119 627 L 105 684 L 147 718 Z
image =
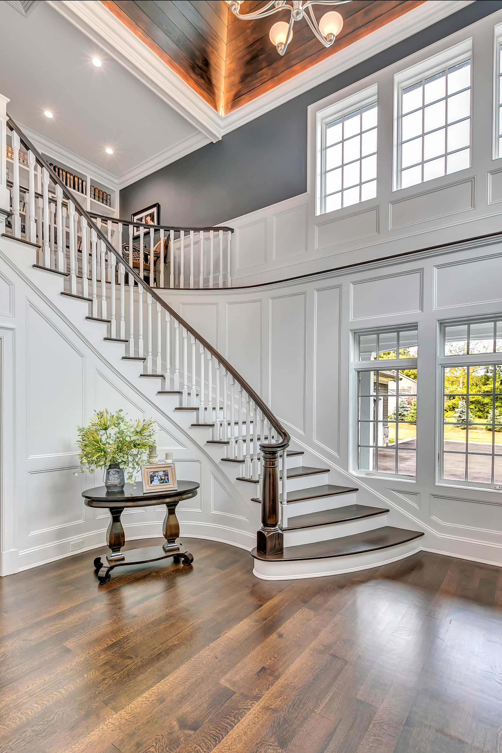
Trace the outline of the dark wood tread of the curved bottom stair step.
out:
M 409 531 L 404 528 L 382 526 L 372 531 L 354 533 L 350 536 L 332 538 L 328 541 L 315 541 L 313 544 L 298 544 L 296 547 L 284 547 L 279 554 L 262 554 L 256 551 L 251 554 L 256 559 L 266 562 L 287 562 L 295 559 L 323 559 L 324 557 L 342 557 L 349 554 L 363 554 L 378 549 L 395 547 L 397 544 L 406 544 L 415 538 L 421 538 L 423 531 Z

